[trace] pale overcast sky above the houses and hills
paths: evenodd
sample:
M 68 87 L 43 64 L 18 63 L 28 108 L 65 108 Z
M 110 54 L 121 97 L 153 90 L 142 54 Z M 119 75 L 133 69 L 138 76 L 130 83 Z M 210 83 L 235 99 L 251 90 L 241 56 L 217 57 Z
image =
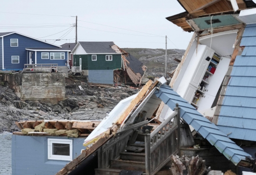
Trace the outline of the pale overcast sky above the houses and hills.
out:
M 75 41 L 75 17 L 70 16 L 78 16 L 78 41 L 113 41 L 121 48 L 165 49 L 165 37 L 159 36 L 167 35 L 174 43 L 167 40 L 168 49 L 186 49 L 192 33 L 183 32 L 165 19 L 183 11 L 176 0 L 2 0 L 0 32 L 44 37 L 41 39 L 48 42 L 68 39 L 55 42 L 61 45 Z

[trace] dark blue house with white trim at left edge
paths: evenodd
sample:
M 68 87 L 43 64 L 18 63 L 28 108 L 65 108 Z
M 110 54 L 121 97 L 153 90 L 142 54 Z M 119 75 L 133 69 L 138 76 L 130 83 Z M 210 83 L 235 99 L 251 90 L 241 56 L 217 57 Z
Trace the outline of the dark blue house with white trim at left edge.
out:
M 0 69 L 23 70 L 24 64 L 68 65 L 68 49 L 17 33 L 0 33 Z

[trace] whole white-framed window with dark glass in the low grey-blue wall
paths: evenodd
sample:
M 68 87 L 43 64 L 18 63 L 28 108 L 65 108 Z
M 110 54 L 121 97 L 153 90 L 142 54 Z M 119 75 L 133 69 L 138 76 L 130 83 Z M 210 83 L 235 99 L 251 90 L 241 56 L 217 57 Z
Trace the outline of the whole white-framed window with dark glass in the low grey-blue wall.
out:
M 48 139 L 48 159 L 73 160 L 73 142 L 69 139 Z

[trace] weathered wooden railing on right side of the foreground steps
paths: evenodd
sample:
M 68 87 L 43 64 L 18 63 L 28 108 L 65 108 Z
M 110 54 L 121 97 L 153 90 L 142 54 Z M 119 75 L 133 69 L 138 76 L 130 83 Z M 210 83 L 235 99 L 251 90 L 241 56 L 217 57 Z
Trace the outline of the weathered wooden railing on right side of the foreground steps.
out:
M 174 114 L 168 117 L 152 133 L 145 134 L 146 174 L 155 175 L 172 154 L 180 149 L 180 108 L 176 105 Z

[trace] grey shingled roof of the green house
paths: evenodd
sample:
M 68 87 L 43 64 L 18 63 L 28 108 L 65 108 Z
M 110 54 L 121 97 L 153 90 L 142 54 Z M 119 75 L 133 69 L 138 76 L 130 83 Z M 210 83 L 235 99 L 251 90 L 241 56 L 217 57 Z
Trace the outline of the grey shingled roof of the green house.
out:
M 86 53 L 117 53 L 111 48 L 114 42 L 78 42 Z

